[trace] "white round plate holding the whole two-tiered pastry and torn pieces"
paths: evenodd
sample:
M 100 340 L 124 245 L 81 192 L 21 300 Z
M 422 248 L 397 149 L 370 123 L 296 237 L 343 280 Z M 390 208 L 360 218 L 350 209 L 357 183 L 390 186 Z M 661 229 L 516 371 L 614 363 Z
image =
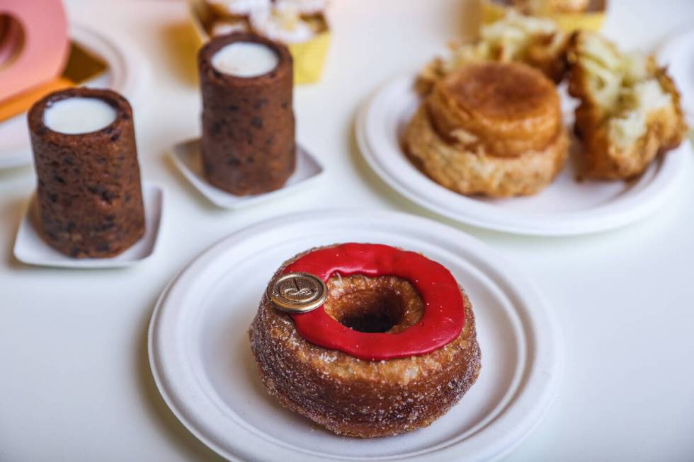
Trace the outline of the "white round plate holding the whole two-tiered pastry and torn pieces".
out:
M 560 92 L 561 94 L 562 92 Z M 402 134 L 419 106 L 414 77 L 382 86 L 356 123 L 360 150 L 371 168 L 394 190 L 422 207 L 482 228 L 540 236 L 567 236 L 613 229 L 661 207 L 682 178 L 689 142 L 661 156 L 639 179 L 577 181 L 576 148 L 554 183 L 537 195 L 511 199 L 465 197 L 421 173 L 402 149 Z M 562 96 L 564 119 L 572 125 L 571 100 Z

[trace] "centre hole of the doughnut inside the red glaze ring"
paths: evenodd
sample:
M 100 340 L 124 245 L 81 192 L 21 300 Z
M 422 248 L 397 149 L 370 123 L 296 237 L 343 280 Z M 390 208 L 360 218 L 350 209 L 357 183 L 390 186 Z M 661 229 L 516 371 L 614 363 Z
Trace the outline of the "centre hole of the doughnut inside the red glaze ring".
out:
M 324 310 L 353 330 L 397 334 L 419 322 L 424 304 L 405 279 L 362 275 L 331 277 Z

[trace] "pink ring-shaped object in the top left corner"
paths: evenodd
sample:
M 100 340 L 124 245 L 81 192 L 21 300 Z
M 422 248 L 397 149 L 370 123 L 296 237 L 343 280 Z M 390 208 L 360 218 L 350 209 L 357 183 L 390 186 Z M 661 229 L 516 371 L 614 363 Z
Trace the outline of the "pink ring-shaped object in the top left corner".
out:
M 0 101 L 55 79 L 69 52 L 60 0 L 0 0 L 4 15 L 16 22 L 0 30 Z

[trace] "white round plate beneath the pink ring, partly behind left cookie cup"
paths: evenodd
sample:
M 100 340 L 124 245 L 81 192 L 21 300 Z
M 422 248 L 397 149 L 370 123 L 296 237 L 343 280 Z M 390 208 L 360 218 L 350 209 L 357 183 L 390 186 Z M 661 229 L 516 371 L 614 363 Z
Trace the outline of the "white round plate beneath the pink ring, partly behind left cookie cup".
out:
M 125 37 L 114 40 L 86 25 L 72 25 L 70 37 L 106 62 L 108 69 L 85 86 L 111 88 L 133 103 L 147 87 L 147 60 Z M 0 170 L 32 162 L 26 114 L 0 123 Z

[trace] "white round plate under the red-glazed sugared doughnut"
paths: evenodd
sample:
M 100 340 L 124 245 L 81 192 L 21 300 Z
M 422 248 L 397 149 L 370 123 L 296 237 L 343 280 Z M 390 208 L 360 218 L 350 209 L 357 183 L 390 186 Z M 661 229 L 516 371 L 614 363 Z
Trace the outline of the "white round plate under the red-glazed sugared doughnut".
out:
M 338 437 L 266 393 L 248 329 L 266 284 L 302 250 L 385 243 L 441 262 L 474 306 L 477 383 L 430 427 L 397 437 Z M 343 210 L 263 221 L 225 238 L 161 295 L 149 363 L 190 432 L 234 461 L 488 461 L 511 451 L 549 407 L 562 357 L 554 318 L 513 265 L 462 231 L 406 214 Z

